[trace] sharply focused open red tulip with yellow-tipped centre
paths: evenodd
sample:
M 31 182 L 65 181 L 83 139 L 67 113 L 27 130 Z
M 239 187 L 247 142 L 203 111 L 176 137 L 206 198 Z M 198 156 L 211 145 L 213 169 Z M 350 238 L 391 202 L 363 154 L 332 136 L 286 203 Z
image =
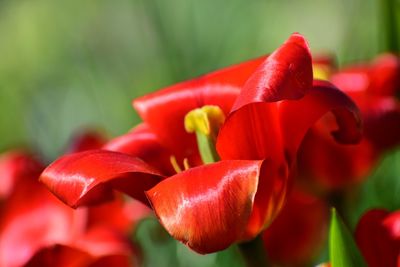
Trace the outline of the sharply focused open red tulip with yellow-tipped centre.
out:
M 61 157 L 40 179 L 72 207 L 105 200 L 112 189 L 127 193 L 199 253 L 251 240 L 282 209 L 315 121 L 332 111 L 335 139 L 360 139 L 357 107 L 332 84 L 313 82 L 311 62 L 306 41 L 293 34 L 268 57 L 136 99 L 142 125 L 109 150 Z

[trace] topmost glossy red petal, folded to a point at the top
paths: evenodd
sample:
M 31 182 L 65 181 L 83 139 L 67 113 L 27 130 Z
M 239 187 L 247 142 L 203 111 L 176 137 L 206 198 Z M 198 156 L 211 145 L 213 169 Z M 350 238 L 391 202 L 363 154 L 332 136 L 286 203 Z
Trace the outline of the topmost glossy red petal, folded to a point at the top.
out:
M 232 111 L 249 103 L 300 98 L 311 88 L 312 79 L 308 44 L 300 34 L 292 34 L 249 78 Z

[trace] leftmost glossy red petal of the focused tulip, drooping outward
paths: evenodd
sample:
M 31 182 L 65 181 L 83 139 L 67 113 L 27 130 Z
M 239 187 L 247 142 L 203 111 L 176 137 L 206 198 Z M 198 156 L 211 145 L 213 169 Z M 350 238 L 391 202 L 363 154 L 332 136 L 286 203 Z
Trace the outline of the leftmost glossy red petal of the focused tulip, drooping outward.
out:
M 143 192 L 160 179 L 142 160 L 106 150 L 63 156 L 40 176 L 41 182 L 71 207 L 108 200 L 112 189 L 147 203 Z

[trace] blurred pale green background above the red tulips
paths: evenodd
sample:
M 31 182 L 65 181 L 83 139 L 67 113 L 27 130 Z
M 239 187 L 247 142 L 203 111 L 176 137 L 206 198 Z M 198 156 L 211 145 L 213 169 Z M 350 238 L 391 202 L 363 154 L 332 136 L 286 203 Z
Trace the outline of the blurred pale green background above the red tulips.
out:
M 292 32 L 339 63 L 383 50 L 373 0 L 1 0 L 0 151 L 47 160 L 81 127 L 122 134 L 134 97 L 273 51 Z

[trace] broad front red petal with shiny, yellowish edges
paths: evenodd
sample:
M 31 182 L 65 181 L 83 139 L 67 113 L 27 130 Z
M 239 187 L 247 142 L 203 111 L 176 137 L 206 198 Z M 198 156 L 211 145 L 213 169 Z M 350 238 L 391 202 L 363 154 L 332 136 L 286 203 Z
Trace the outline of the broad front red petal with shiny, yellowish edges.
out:
M 159 220 L 199 253 L 240 241 L 248 223 L 262 161 L 221 161 L 189 169 L 146 192 Z

